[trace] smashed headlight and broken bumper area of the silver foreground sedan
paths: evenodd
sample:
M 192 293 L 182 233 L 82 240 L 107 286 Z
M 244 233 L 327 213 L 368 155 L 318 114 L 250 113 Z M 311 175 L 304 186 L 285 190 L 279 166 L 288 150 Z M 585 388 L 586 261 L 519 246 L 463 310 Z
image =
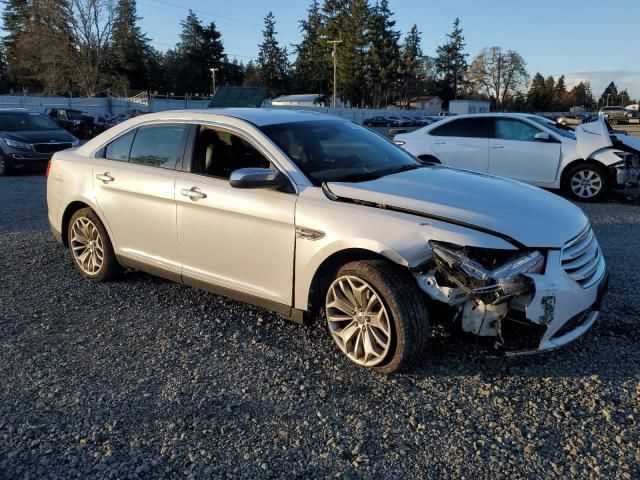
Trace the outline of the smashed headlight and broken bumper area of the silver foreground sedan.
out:
M 432 256 L 413 269 L 420 288 L 431 300 L 448 306 L 449 320 L 462 331 L 493 338 L 499 353 L 557 348 L 577 338 L 579 327 L 590 327 L 597 316 L 589 308 L 566 322 L 557 318 L 554 284 L 544 275 L 548 251 L 462 247 L 433 240 L 429 246 Z M 569 334 L 566 342 L 554 341 L 564 334 Z

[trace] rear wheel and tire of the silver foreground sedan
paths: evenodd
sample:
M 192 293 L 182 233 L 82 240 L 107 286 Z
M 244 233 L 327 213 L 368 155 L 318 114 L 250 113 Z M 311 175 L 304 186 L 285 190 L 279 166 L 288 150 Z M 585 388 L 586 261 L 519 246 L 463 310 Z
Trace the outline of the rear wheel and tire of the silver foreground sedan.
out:
M 69 251 L 76 270 L 96 282 L 118 276 L 121 271 L 107 230 L 90 208 L 73 214 L 67 228 Z

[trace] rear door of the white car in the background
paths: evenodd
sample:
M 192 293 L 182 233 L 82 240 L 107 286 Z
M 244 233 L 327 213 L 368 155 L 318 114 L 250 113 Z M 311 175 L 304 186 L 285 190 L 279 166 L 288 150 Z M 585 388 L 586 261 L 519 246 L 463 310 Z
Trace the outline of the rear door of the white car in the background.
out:
M 489 165 L 489 138 L 486 117 L 448 121 L 429 133 L 431 147 L 445 165 L 486 172 Z

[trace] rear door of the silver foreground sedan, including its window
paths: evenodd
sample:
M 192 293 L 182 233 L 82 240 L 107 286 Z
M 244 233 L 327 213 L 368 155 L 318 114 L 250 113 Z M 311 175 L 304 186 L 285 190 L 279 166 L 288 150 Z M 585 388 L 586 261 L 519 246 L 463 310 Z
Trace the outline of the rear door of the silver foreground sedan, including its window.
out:
M 153 124 L 109 143 L 94 166 L 97 204 L 118 253 L 169 270 L 179 278 L 175 166 L 182 159 L 186 124 Z

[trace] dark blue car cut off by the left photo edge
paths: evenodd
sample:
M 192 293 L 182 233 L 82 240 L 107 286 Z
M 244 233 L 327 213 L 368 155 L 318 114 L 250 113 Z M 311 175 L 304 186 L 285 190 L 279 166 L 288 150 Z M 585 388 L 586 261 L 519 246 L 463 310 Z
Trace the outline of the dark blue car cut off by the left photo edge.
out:
M 44 169 L 54 152 L 79 143 L 46 115 L 21 108 L 0 110 L 0 176 Z

